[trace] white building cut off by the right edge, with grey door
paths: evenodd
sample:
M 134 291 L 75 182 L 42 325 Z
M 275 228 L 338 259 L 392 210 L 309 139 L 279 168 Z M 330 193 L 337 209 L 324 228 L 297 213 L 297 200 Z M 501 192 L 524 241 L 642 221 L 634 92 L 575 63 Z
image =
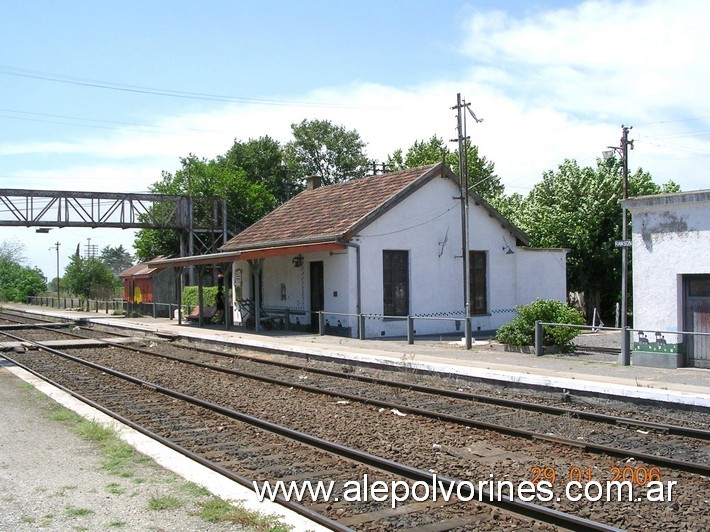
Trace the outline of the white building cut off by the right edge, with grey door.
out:
M 632 216 L 634 353 L 639 365 L 710 367 L 710 190 L 641 196 Z

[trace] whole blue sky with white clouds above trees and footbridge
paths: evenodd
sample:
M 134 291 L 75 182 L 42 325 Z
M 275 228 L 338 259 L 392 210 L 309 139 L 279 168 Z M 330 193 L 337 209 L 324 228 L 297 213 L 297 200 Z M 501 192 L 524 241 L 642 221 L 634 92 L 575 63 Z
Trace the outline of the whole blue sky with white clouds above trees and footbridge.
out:
M 706 0 L 0 0 L 0 188 L 146 192 L 304 119 L 381 162 L 454 138 L 461 94 L 507 193 L 595 165 L 622 125 L 631 171 L 708 189 L 708 19 Z M 48 279 L 55 243 L 61 273 L 88 239 L 133 251 L 127 230 L 0 227 Z

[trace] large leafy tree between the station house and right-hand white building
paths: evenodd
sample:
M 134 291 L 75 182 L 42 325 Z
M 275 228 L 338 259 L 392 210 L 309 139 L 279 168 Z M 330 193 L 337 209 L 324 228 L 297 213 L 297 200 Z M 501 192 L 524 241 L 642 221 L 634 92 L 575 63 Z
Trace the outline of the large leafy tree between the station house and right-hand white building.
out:
M 530 236 L 531 246 L 570 250 L 567 288 L 585 293 L 588 313 L 596 307 L 613 315 L 620 298 L 621 253 L 614 241 L 621 236 L 621 188 L 618 160 L 599 159 L 596 168 L 565 160 L 522 201 L 506 200 L 515 207 L 506 214 Z M 657 185 L 642 169 L 628 179 L 629 196 L 677 190 L 673 182 Z

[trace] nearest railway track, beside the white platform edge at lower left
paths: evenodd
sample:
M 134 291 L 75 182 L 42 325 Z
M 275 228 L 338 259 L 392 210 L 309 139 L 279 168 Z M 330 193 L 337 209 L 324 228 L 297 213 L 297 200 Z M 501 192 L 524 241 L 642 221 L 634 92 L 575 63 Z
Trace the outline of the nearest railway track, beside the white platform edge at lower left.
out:
M 32 356 L 25 357 L 32 358 L 30 364 L 27 360 L 23 362 L 22 356 L 4 356 L 82 399 L 101 405 L 112 415 L 131 420 L 132 425 L 151 434 L 162 435 L 172 447 L 198 454 L 215 469 L 232 470 L 238 458 L 238 468 L 247 468 L 246 472 L 256 480 L 328 478 L 338 486 L 339 501 L 316 504 L 315 510 L 290 506 L 333 529 L 347 530 L 350 526 L 368 530 L 399 529 L 403 519 L 410 528 L 429 530 L 490 526 L 486 523 L 519 528 L 530 526 L 532 522 L 528 519 L 532 519 L 538 525 L 551 525 L 550 529 L 616 530 L 553 508 L 515 498 L 498 498 L 485 487 L 479 489 L 444 475 L 437 477 L 430 471 L 294 430 L 55 349 L 41 347 Z M 276 463 L 269 459 L 274 451 L 278 457 Z M 246 480 L 242 473 L 232 474 Z M 390 508 L 384 501 L 343 502 L 343 488 L 348 480 L 367 478 L 366 475 L 385 485 L 436 482 L 443 489 L 455 487 L 462 498 L 474 502 L 454 499 L 439 504 L 415 503 L 411 508 L 405 507 L 405 511 L 402 507 Z M 324 517 L 320 511 L 338 520 Z

